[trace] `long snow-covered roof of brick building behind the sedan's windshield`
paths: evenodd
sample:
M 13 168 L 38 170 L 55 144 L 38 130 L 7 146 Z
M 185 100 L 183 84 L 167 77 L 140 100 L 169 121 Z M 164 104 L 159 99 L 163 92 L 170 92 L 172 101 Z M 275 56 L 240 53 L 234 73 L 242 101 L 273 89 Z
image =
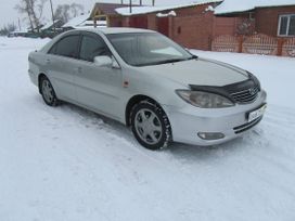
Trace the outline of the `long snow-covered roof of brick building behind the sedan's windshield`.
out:
M 189 8 L 189 6 L 196 6 L 201 4 L 207 4 L 207 3 L 219 3 L 223 0 L 197 0 L 193 3 L 183 3 L 183 4 L 175 4 L 169 6 L 132 6 L 132 13 L 130 13 L 130 8 L 118 8 L 116 9 L 116 12 L 120 15 L 138 15 L 138 14 L 149 14 L 149 13 L 155 13 L 155 12 L 163 12 L 167 10 L 177 10 L 182 8 Z

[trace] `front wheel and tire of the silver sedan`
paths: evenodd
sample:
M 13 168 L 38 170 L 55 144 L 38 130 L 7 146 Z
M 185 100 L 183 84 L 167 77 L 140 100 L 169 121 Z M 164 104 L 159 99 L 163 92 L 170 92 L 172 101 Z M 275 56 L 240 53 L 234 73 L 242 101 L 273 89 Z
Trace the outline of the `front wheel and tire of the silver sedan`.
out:
M 133 135 L 145 148 L 156 151 L 168 146 L 171 127 L 163 108 L 150 101 L 136 104 L 130 114 Z

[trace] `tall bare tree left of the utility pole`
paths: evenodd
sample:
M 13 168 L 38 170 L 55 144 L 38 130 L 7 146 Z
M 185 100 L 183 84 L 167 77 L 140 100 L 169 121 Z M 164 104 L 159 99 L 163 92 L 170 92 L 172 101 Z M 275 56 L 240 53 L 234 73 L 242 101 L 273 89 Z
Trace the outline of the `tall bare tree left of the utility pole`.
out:
M 26 15 L 33 31 L 35 31 L 35 29 L 38 32 L 40 31 L 46 2 L 47 0 L 21 0 L 21 2 L 15 5 L 18 13 Z

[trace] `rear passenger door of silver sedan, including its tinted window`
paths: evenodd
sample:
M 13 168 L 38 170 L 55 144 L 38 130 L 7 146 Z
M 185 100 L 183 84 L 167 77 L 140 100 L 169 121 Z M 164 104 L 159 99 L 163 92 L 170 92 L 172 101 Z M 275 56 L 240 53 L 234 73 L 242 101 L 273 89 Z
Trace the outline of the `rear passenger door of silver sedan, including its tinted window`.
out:
M 74 76 L 78 72 L 77 57 L 80 35 L 59 40 L 47 56 L 47 72 L 59 99 L 76 101 Z

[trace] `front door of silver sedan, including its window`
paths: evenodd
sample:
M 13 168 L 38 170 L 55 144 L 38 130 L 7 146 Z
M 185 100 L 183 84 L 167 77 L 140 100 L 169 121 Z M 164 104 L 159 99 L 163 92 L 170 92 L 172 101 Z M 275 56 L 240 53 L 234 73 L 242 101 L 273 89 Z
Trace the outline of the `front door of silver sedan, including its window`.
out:
M 118 119 L 121 72 L 118 68 L 97 66 L 94 57 L 100 55 L 113 57 L 102 37 L 90 32 L 82 34 L 79 72 L 75 77 L 78 102 Z

